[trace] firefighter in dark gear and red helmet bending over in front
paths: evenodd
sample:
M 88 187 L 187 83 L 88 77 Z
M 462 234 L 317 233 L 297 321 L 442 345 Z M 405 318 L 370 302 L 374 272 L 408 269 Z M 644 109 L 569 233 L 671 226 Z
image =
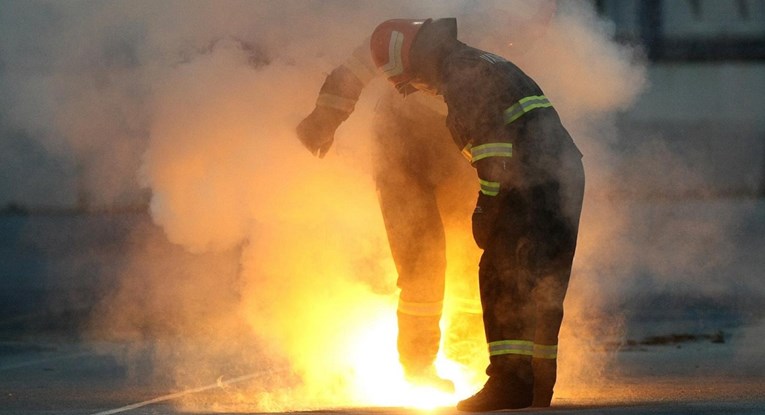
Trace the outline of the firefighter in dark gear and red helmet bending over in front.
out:
M 480 184 L 472 229 L 483 249 L 489 378 L 457 409 L 549 406 L 584 193 L 582 154 L 540 87 L 505 58 L 460 42 L 456 19 L 388 20 L 370 47 L 400 93 L 444 98 L 453 141 Z

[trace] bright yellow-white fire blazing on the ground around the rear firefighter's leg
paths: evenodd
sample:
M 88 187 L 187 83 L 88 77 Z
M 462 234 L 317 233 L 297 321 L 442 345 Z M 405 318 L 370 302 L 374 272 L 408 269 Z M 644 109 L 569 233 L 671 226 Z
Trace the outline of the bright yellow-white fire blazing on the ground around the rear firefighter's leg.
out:
M 285 222 L 260 223 L 258 231 L 268 237 L 253 238 L 247 247 L 243 273 L 249 279 L 242 309 L 254 333 L 267 340 L 278 361 L 288 367 L 283 376 L 248 385 L 242 410 L 252 410 L 252 405 L 258 411 L 428 409 L 451 407 L 475 393 L 485 381 L 483 325 L 478 313 L 452 304 L 477 297 L 477 287 L 470 282 L 477 274 L 479 253 L 474 252 L 477 248 L 465 248 L 474 246 L 472 237 L 466 234 L 464 243 L 449 239 L 455 241 L 449 245 L 455 252 L 447 252 L 450 270 L 436 370 L 454 383 L 455 392 L 416 387 L 405 380 L 399 363 L 397 272 L 377 196 L 356 193 L 354 203 L 337 203 L 347 195 L 335 197 L 327 190 L 373 186 L 359 183 L 360 176 L 345 171 L 325 176 L 310 176 L 312 181 L 301 182 L 294 200 L 280 201 L 280 206 L 301 209 Z M 302 189 L 316 193 L 306 195 Z M 316 205 L 306 209 L 306 200 Z M 464 217 L 469 218 L 469 212 Z M 322 238 L 307 238 L 307 229 Z M 358 235 L 352 243 L 350 234 Z M 363 278 L 366 275 L 375 278 Z

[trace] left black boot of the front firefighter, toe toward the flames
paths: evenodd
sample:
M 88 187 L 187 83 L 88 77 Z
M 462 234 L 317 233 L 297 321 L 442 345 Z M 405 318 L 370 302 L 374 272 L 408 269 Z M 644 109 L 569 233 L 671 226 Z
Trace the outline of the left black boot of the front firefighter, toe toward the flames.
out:
M 530 357 L 493 357 L 486 373 L 489 375 L 489 380 L 486 381 L 483 389 L 459 402 L 458 410 L 488 412 L 531 406 L 534 395 L 534 375 Z

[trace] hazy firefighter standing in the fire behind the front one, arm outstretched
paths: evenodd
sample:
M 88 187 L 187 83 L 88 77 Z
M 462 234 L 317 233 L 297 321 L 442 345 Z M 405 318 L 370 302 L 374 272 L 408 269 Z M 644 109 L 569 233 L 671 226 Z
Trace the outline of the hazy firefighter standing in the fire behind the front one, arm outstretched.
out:
M 378 75 L 366 39 L 326 77 L 315 108 L 297 126 L 298 138 L 312 154 L 324 157 L 363 88 Z M 398 272 L 397 348 L 404 375 L 411 383 L 453 392 L 453 383 L 434 367 L 446 279 L 444 222 L 469 214 L 465 196 L 475 185 L 470 167 L 450 151 L 445 116 L 443 100 L 403 99 L 388 90 L 376 105 L 372 159 Z M 469 223 L 462 222 L 469 233 Z

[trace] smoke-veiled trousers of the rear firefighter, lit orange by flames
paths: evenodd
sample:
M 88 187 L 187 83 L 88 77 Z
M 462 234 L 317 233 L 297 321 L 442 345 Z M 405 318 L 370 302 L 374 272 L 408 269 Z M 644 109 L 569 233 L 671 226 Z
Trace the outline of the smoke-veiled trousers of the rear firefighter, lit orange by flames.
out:
M 465 163 L 454 152 L 443 115 L 411 98 L 384 96 L 378 102 L 373 159 L 401 289 L 399 358 L 407 375 L 416 377 L 432 369 L 441 340 L 446 241 L 436 191 L 451 185 L 453 167 Z

